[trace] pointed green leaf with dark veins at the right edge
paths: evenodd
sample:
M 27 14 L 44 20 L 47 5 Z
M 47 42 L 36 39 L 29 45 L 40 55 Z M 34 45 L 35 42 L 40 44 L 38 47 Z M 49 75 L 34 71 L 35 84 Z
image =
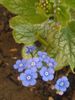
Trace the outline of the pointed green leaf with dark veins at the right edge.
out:
M 63 51 L 63 56 L 66 56 L 73 71 L 75 68 L 75 21 L 71 21 L 67 27 L 63 28 L 58 37 L 60 51 Z

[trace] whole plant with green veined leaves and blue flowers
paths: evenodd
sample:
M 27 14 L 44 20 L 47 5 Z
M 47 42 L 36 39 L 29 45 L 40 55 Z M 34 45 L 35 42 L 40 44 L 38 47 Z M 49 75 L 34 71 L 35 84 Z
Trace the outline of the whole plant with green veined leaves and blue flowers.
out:
M 16 15 L 9 24 L 15 41 L 24 44 L 23 59 L 14 65 L 22 72 L 19 79 L 24 86 L 35 85 L 38 74 L 51 81 L 55 71 L 67 65 L 74 73 L 75 0 L 0 0 L 0 4 Z M 40 47 L 32 46 L 36 41 Z M 54 87 L 65 92 L 68 78 L 59 78 Z

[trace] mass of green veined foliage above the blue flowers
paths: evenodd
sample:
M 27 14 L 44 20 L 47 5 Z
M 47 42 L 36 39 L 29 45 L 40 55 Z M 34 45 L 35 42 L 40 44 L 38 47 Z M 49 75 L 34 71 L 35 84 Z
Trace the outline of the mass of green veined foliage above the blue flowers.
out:
M 60 1 L 60 2 L 59 2 Z M 70 65 L 75 68 L 75 0 L 0 0 L 10 12 L 13 37 L 29 45 L 39 40 L 41 49 L 58 62 L 56 70 Z M 24 48 L 22 49 L 24 55 Z

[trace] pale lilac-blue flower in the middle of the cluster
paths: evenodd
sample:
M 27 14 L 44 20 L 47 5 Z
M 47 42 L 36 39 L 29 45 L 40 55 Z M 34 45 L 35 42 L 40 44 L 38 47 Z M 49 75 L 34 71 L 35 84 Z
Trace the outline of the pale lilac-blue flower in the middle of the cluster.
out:
M 42 62 L 40 58 L 31 58 L 27 61 L 27 68 L 33 68 L 35 70 L 42 67 Z

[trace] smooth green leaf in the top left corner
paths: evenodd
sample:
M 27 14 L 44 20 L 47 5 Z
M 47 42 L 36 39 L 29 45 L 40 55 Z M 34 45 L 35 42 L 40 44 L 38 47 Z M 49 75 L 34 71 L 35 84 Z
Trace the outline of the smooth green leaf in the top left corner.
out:
M 30 23 L 41 23 L 47 19 L 44 13 L 37 11 L 38 0 L 0 0 L 10 12 L 21 15 Z

